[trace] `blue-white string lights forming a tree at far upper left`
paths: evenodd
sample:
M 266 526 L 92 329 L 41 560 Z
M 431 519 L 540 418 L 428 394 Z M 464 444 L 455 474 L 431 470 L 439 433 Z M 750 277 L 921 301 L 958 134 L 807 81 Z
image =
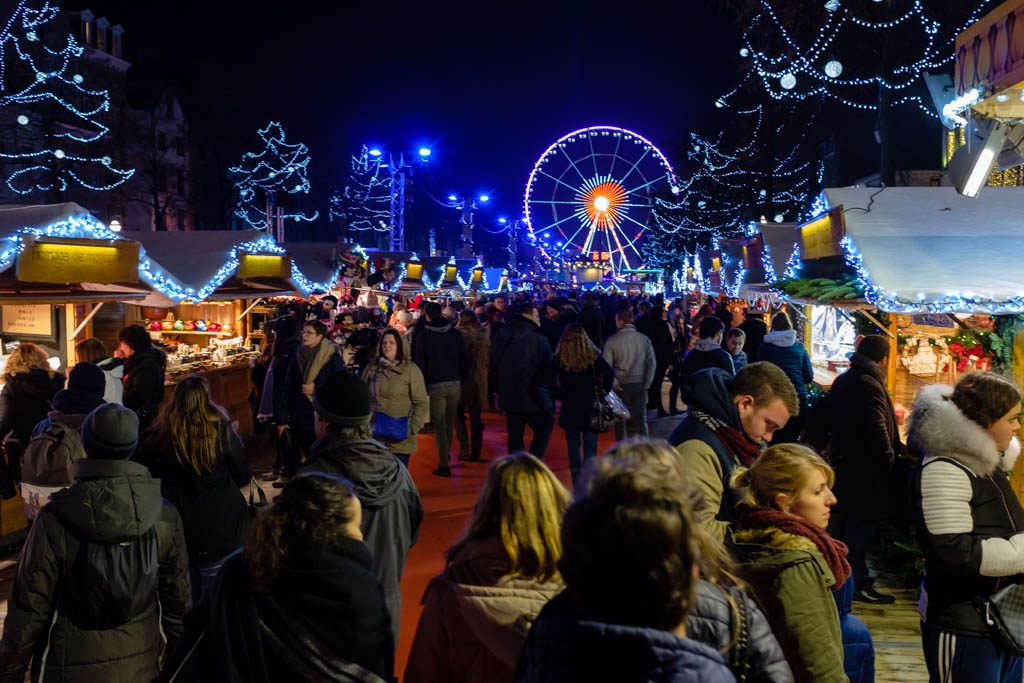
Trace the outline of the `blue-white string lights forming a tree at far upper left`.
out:
M 60 47 L 45 45 L 39 40 L 38 32 L 57 17 L 59 9 L 56 3 L 49 0 L 43 0 L 38 7 L 33 7 L 30 0 L 20 0 L 0 29 L 0 109 L 31 108 L 28 113 L 17 116 L 19 125 L 29 126 L 32 123 L 32 118 L 28 116 L 31 113 L 40 117 L 33 129 L 42 131 L 52 128 L 48 139 L 61 145 L 69 141 L 87 145 L 98 141 L 110 131 L 97 118 L 110 111 L 110 92 L 87 89 L 82 86 L 84 79 L 81 75 L 69 75 L 74 71 L 73 65 L 85 52 L 74 36 L 67 34 Z M 28 79 L 24 86 L 15 86 L 14 89 L 11 89 L 7 74 L 10 50 L 24 62 L 28 73 L 35 74 L 35 78 Z M 61 96 L 63 93 L 69 95 L 67 99 Z M 45 109 L 38 110 L 34 105 L 56 105 L 68 113 L 75 125 L 52 127 L 52 121 L 41 120 Z M 17 146 L 16 138 L 8 140 L 8 143 L 10 147 Z M 0 159 L 14 162 L 15 170 L 5 181 L 17 195 L 50 190 L 62 193 L 72 184 L 103 191 L 121 185 L 135 173 L 134 169 L 115 168 L 110 157 L 69 153 L 60 146 L 29 152 L 0 151 Z

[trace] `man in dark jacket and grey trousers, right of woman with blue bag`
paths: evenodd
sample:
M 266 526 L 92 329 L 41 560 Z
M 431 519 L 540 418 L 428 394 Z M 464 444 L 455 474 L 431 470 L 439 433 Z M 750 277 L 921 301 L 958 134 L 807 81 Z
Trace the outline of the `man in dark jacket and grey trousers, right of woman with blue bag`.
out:
M 434 474 L 452 476 L 452 433 L 459 417 L 462 380 L 469 372 L 469 355 L 455 321 L 441 313 L 436 301 L 424 307 L 426 326 L 416 333 L 413 360 L 423 372 L 423 382 L 430 396 L 430 424 L 437 443 L 437 469 Z

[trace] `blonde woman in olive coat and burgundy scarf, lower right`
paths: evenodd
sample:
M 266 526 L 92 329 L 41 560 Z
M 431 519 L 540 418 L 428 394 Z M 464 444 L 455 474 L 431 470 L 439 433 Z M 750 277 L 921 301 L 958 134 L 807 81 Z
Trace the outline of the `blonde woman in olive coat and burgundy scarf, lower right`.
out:
M 732 477 L 742 500 L 727 543 L 801 683 L 848 680 L 833 593 L 851 568 L 846 546 L 825 530 L 834 481 L 820 456 L 795 443 L 771 446 Z

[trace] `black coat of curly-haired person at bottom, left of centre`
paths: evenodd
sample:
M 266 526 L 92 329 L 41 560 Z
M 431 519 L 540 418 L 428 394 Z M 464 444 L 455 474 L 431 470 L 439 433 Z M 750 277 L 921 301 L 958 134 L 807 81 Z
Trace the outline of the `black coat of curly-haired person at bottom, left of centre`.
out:
M 179 681 L 300 681 L 325 660 L 321 674 L 343 660 L 379 678 L 316 680 L 390 682 L 393 636 L 370 564 L 362 542 L 343 539 L 319 552 L 290 556 L 264 593 L 253 587 L 242 554 L 233 555 L 185 620 L 184 637 L 162 680 L 180 668 Z

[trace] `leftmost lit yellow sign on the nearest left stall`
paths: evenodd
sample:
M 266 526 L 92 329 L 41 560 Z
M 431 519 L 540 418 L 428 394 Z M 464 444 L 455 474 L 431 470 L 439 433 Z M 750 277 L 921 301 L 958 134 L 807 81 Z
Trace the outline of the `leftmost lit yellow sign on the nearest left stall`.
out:
M 138 282 L 138 243 L 25 236 L 15 274 L 24 283 Z

